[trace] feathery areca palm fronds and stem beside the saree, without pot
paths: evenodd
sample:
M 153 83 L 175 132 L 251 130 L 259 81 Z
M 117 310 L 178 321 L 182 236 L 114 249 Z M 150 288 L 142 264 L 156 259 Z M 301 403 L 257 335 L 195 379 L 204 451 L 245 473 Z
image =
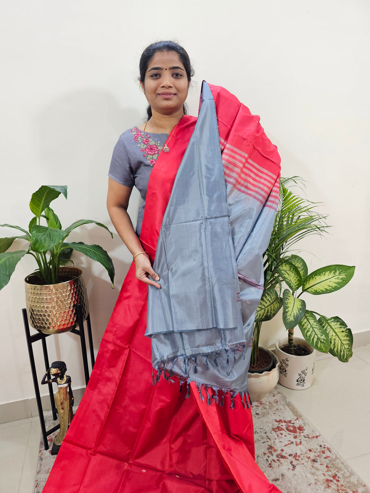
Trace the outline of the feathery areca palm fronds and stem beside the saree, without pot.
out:
M 272 228 L 269 245 L 264 252 L 263 293 L 254 324 L 251 365 L 258 361 L 259 334 L 262 322 L 271 320 L 283 306 L 281 297 L 281 266 L 287 260 L 292 247 L 303 238 L 318 234 L 322 236 L 330 226 L 325 222 L 328 215 L 316 211 L 321 202 L 311 202 L 288 189 L 290 183 L 302 182 L 299 176 L 280 179 L 279 205 Z M 276 287 L 279 286 L 279 294 Z

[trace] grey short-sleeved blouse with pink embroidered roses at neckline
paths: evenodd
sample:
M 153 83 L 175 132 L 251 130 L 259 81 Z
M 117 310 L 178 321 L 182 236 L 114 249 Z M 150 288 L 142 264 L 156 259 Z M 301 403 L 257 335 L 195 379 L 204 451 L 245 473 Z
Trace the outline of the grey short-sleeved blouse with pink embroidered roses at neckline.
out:
M 167 137 L 168 134 L 143 132 L 134 126 L 119 136 L 113 149 L 108 176 L 121 185 L 135 185 L 143 199 L 136 223 L 138 237 L 143 223 L 150 172 Z

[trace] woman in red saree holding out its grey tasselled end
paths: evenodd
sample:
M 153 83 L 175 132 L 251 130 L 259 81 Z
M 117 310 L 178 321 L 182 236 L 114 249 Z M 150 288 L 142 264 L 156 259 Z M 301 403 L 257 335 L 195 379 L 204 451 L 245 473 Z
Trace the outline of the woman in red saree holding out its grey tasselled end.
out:
M 247 374 L 280 158 L 221 87 L 186 115 L 191 76 L 178 44 L 143 52 L 148 121 L 119 138 L 107 199 L 133 263 L 46 493 L 279 492 L 254 461 Z

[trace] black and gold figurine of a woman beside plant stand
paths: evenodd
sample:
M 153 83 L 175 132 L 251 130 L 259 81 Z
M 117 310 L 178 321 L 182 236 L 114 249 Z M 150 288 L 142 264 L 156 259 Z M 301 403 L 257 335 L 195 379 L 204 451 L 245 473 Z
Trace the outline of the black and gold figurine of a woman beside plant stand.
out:
M 51 455 L 58 454 L 60 446 L 62 445 L 63 438 L 66 436 L 67 430 L 71 424 L 73 418 L 73 402 L 74 396 L 71 388 L 71 377 L 66 375 L 67 366 L 64 361 L 54 361 L 51 363 L 51 367 L 42 377 L 41 384 L 51 384 L 56 382 L 58 390 L 54 396 L 55 406 L 58 411 L 60 430 L 57 436 L 54 438 L 54 443 L 51 449 Z M 53 375 L 54 378 L 49 378 L 49 375 Z

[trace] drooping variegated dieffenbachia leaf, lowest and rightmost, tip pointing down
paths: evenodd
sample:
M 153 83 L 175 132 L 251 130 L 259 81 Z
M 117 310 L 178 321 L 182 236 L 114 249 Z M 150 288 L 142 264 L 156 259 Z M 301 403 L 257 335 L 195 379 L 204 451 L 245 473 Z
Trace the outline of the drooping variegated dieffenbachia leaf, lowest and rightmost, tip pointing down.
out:
M 320 325 L 329 334 L 329 352 L 339 361 L 347 362 L 352 356 L 353 335 L 347 324 L 339 317 L 324 317 L 318 319 Z

